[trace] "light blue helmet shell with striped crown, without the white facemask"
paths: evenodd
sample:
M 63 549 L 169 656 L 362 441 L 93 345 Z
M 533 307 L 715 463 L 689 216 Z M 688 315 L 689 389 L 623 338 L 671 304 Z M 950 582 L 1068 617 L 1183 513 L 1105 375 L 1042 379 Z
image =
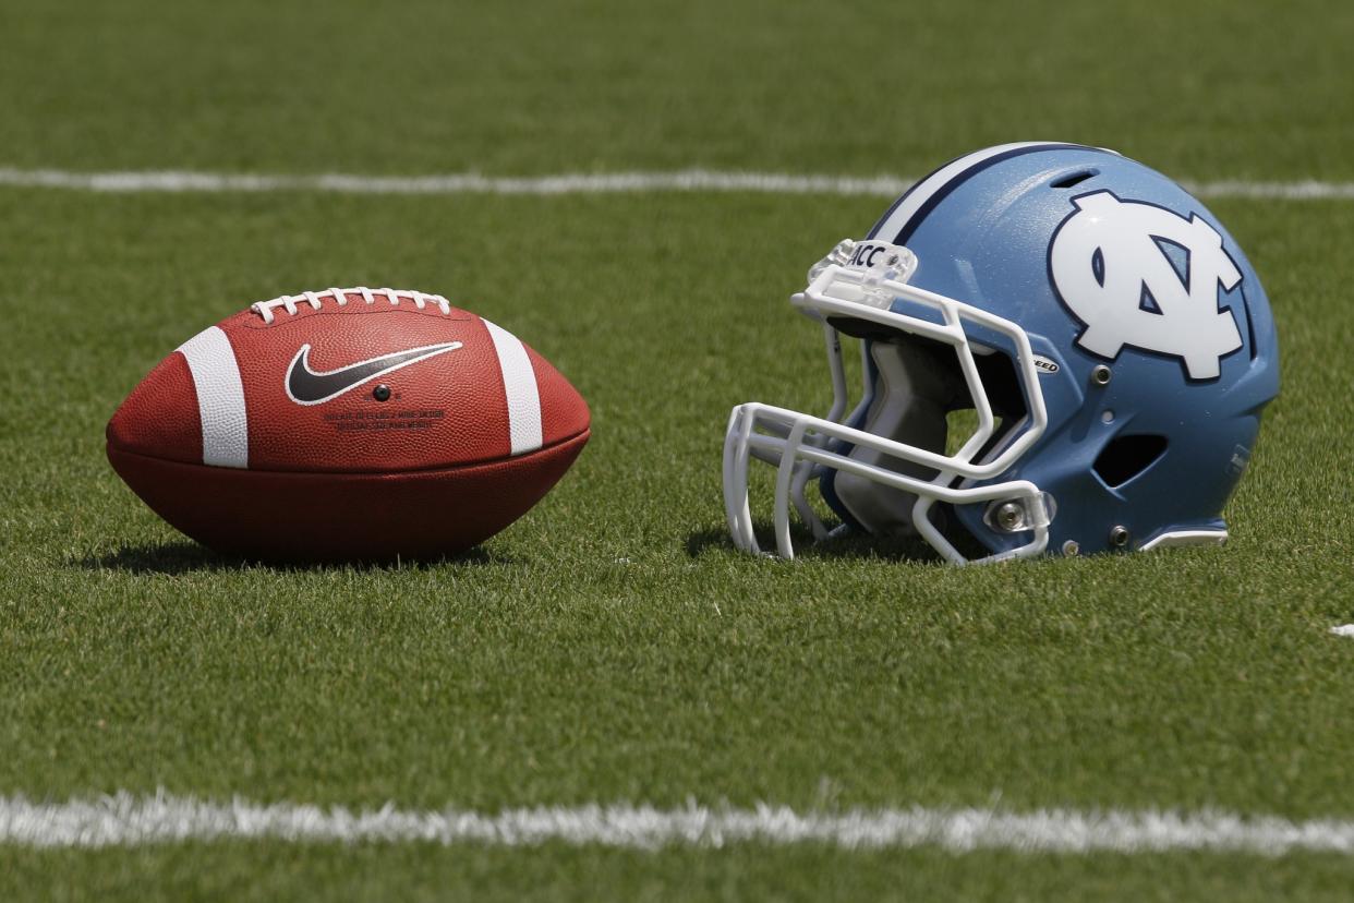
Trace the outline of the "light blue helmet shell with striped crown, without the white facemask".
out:
M 963 485 L 1028 479 L 1049 493 L 1055 552 L 1221 535 L 1278 393 L 1278 344 L 1259 278 L 1197 198 L 1109 150 L 1009 145 L 918 183 L 869 238 L 906 245 L 918 259 L 910 284 L 1017 324 L 1052 364 L 1039 376 L 1043 436 L 1013 468 Z M 976 351 L 1014 360 L 1009 338 L 964 328 Z M 992 552 L 1029 542 L 986 509 L 953 516 Z

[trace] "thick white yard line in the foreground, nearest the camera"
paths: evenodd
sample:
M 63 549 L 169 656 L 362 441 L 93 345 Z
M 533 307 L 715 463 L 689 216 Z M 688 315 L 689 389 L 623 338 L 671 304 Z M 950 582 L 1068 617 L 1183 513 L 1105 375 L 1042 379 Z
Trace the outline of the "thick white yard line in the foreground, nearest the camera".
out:
M 1293 852 L 1354 854 L 1354 822 L 1225 812 L 998 810 L 849 810 L 796 812 L 777 806 L 581 806 L 473 812 L 214 803 L 160 792 L 34 803 L 0 797 L 0 843 L 35 847 L 142 846 L 176 841 L 432 842 L 535 846 L 547 841 L 626 849 L 816 842 L 846 849 L 952 852 L 1166 853 Z

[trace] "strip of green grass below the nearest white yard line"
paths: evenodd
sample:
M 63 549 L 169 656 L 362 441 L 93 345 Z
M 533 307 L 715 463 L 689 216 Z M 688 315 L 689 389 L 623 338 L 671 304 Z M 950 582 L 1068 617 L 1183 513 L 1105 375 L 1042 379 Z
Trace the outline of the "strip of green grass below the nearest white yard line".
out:
M 184 845 L 80 857 L 0 850 L 0 889 L 47 899 L 276 900 L 1074 900 L 1349 899 L 1349 869 L 1319 856 L 1045 857 L 841 854 L 812 846 L 651 853 L 546 846 Z M 204 868 L 210 864 L 210 868 Z

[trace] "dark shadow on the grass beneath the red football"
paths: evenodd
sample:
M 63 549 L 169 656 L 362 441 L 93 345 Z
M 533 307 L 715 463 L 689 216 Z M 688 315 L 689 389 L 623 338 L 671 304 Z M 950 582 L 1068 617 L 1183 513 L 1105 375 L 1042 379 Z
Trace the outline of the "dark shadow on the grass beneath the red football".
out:
M 85 570 L 112 570 L 129 574 L 190 574 L 203 571 L 237 571 L 256 567 L 274 571 L 321 570 L 401 570 L 427 569 L 436 565 L 512 565 L 516 559 L 475 547 L 466 552 L 439 559 L 398 562 L 267 562 L 236 555 L 222 555 L 206 546 L 188 540 L 123 546 L 112 552 L 89 554 L 66 560 L 70 567 Z

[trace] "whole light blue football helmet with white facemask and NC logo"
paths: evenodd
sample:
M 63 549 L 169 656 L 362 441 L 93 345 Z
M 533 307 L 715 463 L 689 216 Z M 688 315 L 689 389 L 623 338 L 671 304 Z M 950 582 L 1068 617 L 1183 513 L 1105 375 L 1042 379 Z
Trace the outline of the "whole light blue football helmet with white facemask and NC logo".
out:
M 758 551 L 747 468 L 833 531 L 902 531 L 946 559 L 1219 543 L 1278 393 L 1255 271 L 1216 217 L 1110 150 L 1013 144 L 960 157 L 841 242 L 791 298 L 827 338 L 826 417 L 749 402 L 724 441 L 734 542 Z M 849 405 L 841 334 L 861 340 Z M 974 409 L 965 441 L 951 414 Z

